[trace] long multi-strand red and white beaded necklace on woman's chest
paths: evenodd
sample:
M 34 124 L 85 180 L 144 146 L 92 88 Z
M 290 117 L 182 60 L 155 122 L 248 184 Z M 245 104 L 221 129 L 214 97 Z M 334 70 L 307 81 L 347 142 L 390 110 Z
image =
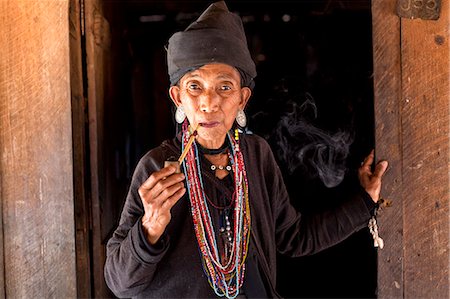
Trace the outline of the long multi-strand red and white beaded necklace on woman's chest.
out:
M 190 132 L 183 124 L 182 151 L 186 146 Z M 239 134 L 233 139 L 227 135 L 231 144 L 231 165 L 233 167 L 235 192 L 233 193 L 233 233 L 232 247 L 228 257 L 221 258 L 217 246 L 215 229 L 208 208 L 207 197 L 203 188 L 200 159 L 196 142 L 189 149 L 183 162 L 187 189 L 191 202 L 194 230 L 199 245 L 203 270 L 208 282 L 217 296 L 236 298 L 242 287 L 245 274 L 245 260 L 250 239 L 250 207 L 248 200 L 248 182 L 244 159 L 239 149 Z

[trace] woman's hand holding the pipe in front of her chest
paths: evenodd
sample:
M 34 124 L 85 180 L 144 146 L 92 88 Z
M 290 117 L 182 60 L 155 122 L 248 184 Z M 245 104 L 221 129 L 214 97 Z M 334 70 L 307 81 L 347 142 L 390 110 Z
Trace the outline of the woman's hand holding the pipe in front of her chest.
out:
M 175 171 L 175 166 L 164 167 L 139 187 L 145 211 L 142 226 L 150 244 L 155 244 L 164 233 L 172 217 L 170 209 L 186 192 L 184 174 Z

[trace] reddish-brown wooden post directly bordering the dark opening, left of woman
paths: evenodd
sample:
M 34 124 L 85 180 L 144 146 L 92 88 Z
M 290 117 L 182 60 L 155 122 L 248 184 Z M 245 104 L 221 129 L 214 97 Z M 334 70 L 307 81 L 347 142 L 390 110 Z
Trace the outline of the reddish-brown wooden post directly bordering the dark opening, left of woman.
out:
M 92 275 L 94 296 L 111 297 L 106 286 L 103 267 L 106 244 L 102 234 L 102 206 L 106 199 L 104 109 L 105 76 L 110 36 L 109 24 L 103 16 L 101 0 L 84 1 L 86 63 L 88 80 L 89 157 L 91 174 Z

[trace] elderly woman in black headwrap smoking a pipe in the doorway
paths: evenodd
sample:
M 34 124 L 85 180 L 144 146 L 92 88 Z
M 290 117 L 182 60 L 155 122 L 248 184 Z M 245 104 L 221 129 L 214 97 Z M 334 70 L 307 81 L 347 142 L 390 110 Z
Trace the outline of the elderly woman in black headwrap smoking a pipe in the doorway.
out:
M 108 242 L 106 282 L 119 297 L 278 297 L 277 252 L 312 254 L 367 226 L 387 163 L 372 173 L 369 155 L 358 194 L 301 215 L 269 145 L 238 130 L 256 76 L 240 18 L 212 4 L 171 37 L 167 59 L 181 133 L 136 167 Z M 164 167 L 182 152 L 181 172 Z

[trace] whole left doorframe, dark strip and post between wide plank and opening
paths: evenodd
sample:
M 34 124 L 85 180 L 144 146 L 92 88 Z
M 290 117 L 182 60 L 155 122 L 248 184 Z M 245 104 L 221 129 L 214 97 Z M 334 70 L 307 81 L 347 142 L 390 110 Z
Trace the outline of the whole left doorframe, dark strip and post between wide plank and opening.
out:
M 78 297 L 112 297 L 103 267 L 106 242 L 104 97 L 109 25 L 102 0 L 70 0 L 71 88 L 74 147 Z

